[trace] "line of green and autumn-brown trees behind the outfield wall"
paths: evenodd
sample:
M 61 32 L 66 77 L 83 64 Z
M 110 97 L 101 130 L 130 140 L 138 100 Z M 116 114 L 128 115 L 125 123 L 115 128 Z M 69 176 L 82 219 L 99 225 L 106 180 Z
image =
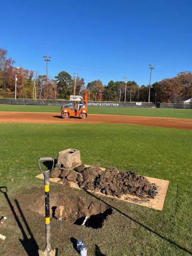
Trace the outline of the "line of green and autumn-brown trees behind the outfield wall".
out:
M 15 75 L 17 77 L 17 98 L 28 99 L 69 99 L 74 94 L 88 93 L 89 100 L 105 101 L 148 101 L 149 87 L 139 86 L 136 81 L 125 82 L 111 80 L 104 85 L 101 80 L 88 82 L 84 78 L 72 77 L 68 72 L 61 71 L 55 79 L 49 79 L 38 72 L 14 67 L 15 61 L 7 57 L 7 51 L 0 48 L 0 97 L 14 98 Z M 180 72 L 173 78 L 165 78 L 155 82 L 151 87 L 151 101 L 181 102 L 192 98 L 192 73 Z

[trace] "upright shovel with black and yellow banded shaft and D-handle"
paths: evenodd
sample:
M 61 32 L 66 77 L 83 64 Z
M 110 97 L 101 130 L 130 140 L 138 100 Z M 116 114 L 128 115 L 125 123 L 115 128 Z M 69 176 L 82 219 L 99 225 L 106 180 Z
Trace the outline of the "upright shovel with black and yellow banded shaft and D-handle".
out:
M 53 161 L 53 166 L 47 172 L 44 172 L 41 168 L 40 162 Z M 54 167 L 53 157 L 40 157 L 38 158 L 38 166 L 41 173 L 44 175 L 45 184 L 45 228 L 46 228 L 46 250 L 38 250 L 39 256 L 55 256 L 57 255 L 56 250 L 51 249 L 51 227 L 50 227 L 50 205 L 49 205 L 49 176 Z

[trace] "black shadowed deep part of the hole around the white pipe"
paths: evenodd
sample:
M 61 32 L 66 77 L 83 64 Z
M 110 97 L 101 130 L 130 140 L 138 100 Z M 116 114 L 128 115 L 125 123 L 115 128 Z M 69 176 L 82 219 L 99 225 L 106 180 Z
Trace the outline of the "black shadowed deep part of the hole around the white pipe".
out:
M 92 228 L 101 228 L 104 221 L 108 218 L 108 216 L 112 215 L 113 210 L 111 208 L 106 209 L 104 212 L 96 215 L 91 215 L 90 218 L 86 221 L 84 226 L 92 227 Z M 74 224 L 82 225 L 85 217 L 81 217 L 77 219 Z

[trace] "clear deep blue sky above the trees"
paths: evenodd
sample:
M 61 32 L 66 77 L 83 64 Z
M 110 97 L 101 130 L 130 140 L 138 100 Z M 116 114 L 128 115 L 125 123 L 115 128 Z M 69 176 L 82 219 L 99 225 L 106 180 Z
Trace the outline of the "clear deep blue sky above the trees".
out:
M 148 84 L 191 70 L 191 0 L 1 0 L 0 47 L 16 67 Z

